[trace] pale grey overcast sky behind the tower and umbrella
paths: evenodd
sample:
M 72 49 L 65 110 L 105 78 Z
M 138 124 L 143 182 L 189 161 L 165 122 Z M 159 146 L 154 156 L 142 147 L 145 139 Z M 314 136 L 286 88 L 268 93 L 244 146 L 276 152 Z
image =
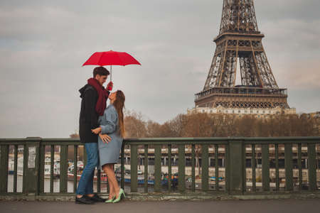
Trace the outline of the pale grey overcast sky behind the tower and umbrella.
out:
M 142 66 L 112 67 L 126 108 L 163 123 L 194 106 L 215 51 L 223 0 L 0 1 L 0 138 L 68 138 L 96 51 Z M 320 110 L 320 1 L 256 0 L 279 87 L 297 112 Z M 109 69 L 109 67 L 107 67 Z

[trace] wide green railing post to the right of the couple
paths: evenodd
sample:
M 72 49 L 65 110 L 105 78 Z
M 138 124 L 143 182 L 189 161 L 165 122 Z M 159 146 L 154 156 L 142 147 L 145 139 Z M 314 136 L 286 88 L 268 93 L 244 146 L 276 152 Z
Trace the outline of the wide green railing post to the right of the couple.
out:
M 229 150 L 228 150 L 228 173 L 229 173 L 229 193 L 232 195 L 242 195 L 243 191 L 243 141 L 233 140 L 228 141 Z M 227 173 L 227 171 L 226 171 Z

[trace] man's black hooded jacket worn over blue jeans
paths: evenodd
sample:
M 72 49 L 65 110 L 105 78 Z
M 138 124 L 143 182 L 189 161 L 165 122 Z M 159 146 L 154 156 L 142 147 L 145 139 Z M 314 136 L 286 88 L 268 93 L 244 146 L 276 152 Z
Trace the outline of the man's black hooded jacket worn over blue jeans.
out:
M 99 127 L 98 118 L 99 115 L 95 111 L 95 105 L 97 104 L 98 93 L 95 87 L 86 84 L 79 89 L 81 101 L 80 119 L 79 119 L 79 135 L 81 143 L 97 143 L 97 137 L 95 133 L 92 133 L 91 129 Z

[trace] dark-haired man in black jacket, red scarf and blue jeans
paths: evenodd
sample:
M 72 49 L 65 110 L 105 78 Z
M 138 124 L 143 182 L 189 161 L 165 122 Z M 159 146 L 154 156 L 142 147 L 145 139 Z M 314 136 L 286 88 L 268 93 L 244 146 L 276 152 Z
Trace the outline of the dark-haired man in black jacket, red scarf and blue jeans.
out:
M 93 204 L 94 202 L 105 202 L 97 194 L 93 193 L 93 175 L 95 167 L 99 165 L 99 155 L 97 140 L 98 136 L 92 133 L 92 129 L 99 127 L 98 118 L 103 115 L 107 98 L 112 90 L 112 82 L 107 84 L 107 89 L 103 84 L 107 80 L 110 72 L 105 67 L 95 67 L 93 78 L 87 80 L 87 84 L 82 87 L 80 92 L 81 109 L 79 119 L 80 142 L 85 143 L 87 152 L 87 165 L 82 172 L 76 192 L 75 203 Z M 106 136 L 110 141 L 110 137 Z

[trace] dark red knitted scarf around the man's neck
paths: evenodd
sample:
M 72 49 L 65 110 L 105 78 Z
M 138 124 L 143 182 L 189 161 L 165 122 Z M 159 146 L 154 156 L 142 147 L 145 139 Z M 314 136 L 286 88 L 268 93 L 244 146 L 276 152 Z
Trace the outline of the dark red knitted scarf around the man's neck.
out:
M 107 107 L 106 102 L 110 92 L 108 92 L 104 87 L 102 87 L 95 78 L 88 79 L 87 84 L 91 85 L 95 88 L 95 90 L 97 90 L 99 97 L 97 99 L 97 104 L 95 105 L 95 111 L 97 111 L 97 114 L 102 116 L 105 112 L 105 108 Z

